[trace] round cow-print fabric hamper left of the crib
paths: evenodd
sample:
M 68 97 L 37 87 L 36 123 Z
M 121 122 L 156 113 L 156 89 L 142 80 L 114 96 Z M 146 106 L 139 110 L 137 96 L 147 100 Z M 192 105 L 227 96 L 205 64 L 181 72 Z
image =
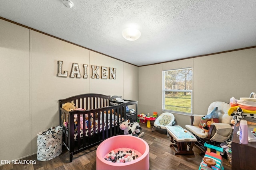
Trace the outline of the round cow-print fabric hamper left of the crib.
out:
M 62 127 L 51 127 L 37 134 L 37 160 L 51 160 L 62 152 Z

